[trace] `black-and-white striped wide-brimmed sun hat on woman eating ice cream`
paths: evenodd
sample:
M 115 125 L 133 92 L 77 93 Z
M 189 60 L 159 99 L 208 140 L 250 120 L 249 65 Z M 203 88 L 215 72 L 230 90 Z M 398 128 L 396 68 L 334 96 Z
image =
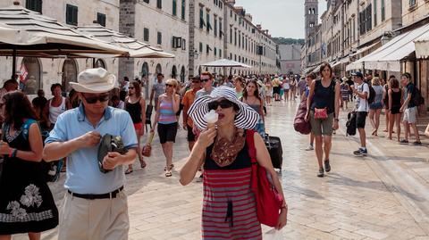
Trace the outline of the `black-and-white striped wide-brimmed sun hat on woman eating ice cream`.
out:
M 234 121 L 235 127 L 253 129 L 257 126 L 259 114 L 249 107 L 248 104 L 240 102 L 234 88 L 222 86 L 214 88 L 210 95 L 203 95 L 199 97 L 190 106 L 188 115 L 192 120 L 194 120 L 197 128 L 205 129 L 207 127 L 207 122 L 204 116 L 207 112 L 209 112 L 208 103 L 218 101 L 221 98 L 227 99 L 232 103 L 237 104 L 240 108 Z

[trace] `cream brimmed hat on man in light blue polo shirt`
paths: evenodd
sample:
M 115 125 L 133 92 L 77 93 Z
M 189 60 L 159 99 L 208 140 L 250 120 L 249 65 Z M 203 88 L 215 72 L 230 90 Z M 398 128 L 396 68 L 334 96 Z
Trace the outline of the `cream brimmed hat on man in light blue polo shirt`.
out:
M 78 82 L 70 82 L 76 92 L 101 94 L 114 89 L 116 77 L 103 68 L 88 69 L 80 72 Z

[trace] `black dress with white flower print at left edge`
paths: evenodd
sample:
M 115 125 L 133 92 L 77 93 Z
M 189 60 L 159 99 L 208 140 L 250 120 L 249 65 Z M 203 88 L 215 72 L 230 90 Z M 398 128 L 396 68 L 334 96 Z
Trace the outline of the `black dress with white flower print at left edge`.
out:
M 3 141 L 21 151 L 29 151 L 24 131 L 9 135 L 4 126 Z M 58 210 L 42 172 L 41 162 L 4 156 L 0 179 L 0 235 L 43 232 L 58 225 Z

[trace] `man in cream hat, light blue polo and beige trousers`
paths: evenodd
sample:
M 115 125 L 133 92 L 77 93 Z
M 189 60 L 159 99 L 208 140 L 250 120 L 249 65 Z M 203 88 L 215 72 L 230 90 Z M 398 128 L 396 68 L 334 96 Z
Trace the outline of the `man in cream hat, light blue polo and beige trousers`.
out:
M 61 114 L 46 139 L 45 161 L 67 157 L 60 240 L 128 238 L 123 166 L 137 156 L 137 137 L 130 114 L 107 105 L 115 83 L 116 77 L 101 68 L 80 72 L 78 82 L 71 83 L 71 87 L 82 103 Z M 122 137 L 128 153 L 107 153 L 100 166 L 97 149 L 105 134 Z M 109 171 L 102 172 L 101 168 Z

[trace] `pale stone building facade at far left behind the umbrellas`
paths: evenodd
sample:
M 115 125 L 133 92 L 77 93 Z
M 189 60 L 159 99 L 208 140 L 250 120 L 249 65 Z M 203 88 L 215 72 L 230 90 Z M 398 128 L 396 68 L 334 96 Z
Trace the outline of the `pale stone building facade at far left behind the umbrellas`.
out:
M 97 21 L 109 29 L 119 29 L 119 0 L 4 0 L 0 7 L 12 6 L 18 2 L 21 6 L 40 12 L 47 17 L 63 22 L 69 27 L 86 26 Z M 118 62 L 114 59 L 50 59 L 18 57 L 17 70 L 25 65 L 29 72 L 28 78 L 33 76 L 38 88 L 51 95 L 50 87 L 54 83 L 61 83 L 63 90 L 70 90 L 69 82 L 76 81 L 80 71 L 93 66 L 104 67 L 106 70 L 118 73 Z M 3 81 L 12 76 L 12 59 L 0 57 L 0 79 Z M 31 96 L 36 95 L 32 93 Z

